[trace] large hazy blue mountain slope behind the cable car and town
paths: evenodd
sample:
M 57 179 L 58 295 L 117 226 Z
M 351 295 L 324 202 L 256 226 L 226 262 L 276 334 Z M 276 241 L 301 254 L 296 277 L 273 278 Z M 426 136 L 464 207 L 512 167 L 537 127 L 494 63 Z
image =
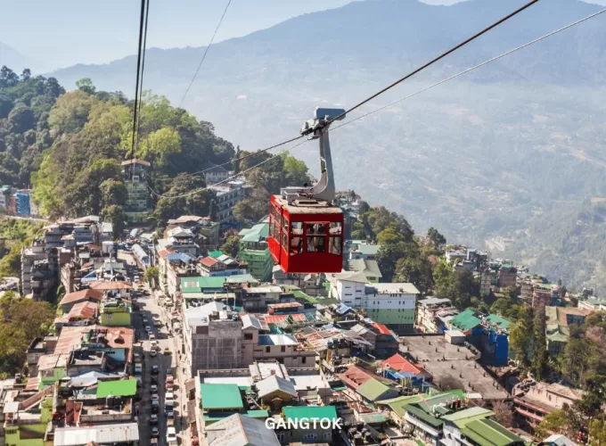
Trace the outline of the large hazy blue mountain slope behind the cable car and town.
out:
M 356 103 L 522 3 L 368 0 L 306 14 L 210 48 L 184 107 L 242 149 L 272 145 L 296 135 L 316 105 Z M 362 111 L 599 9 L 539 2 Z M 144 87 L 180 103 L 202 51 L 149 50 Z M 337 184 L 405 213 L 419 230 L 439 227 L 453 242 L 486 244 L 495 256 L 581 285 L 606 271 L 606 257 L 577 273 L 562 265 L 584 252 L 570 259 L 566 252 L 554 269 L 545 252 L 560 251 L 533 231 L 536 219 L 569 225 L 562 213 L 576 215 L 580 202 L 606 196 L 605 56 L 606 14 L 336 130 Z M 135 56 L 53 75 L 66 87 L 87 77 L 132 95 Z M 296 150 L 315 169 L 315 144 Z

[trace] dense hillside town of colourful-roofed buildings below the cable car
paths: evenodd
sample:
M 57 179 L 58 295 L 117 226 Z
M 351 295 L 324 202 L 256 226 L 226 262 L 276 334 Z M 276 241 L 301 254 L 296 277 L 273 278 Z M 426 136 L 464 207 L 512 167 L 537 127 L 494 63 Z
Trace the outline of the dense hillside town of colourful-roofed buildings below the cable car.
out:
M 22 248 L 3 301 L 53 302 L 56 318 L 0 382 L 4 444 L 594 442 L 593 425 L 553 421 L 592 404 L 590 378 L 551 365 L 569 360 L 587 318 L 603 322 L 606 300 L 593 290 L 570 293 L 431 231 L 419 243 L 435 242 L 434 284 L 396 281 L 402 273 L 381 270 L 387 237 L 352 238 L 367 212 L 352 191 L 339 194 L 341 272 L 286 274 L 267 247 L 268 218 L 236 229 L 246 195 L 245 181 L 217 186 L 214 215 L 160 229 L 133 202 L 118 239 L 88 216 L 49 223 Z M 478 295 L 444 297 L 439 268 L 448 286 L 471 277 Z M 520 351 L 523 310 L 543 328 Z

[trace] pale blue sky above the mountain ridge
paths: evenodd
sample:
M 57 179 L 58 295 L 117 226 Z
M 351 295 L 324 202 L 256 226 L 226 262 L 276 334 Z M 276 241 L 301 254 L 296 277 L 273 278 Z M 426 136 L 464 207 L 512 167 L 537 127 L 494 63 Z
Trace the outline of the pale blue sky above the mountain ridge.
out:
M 455 4 L 459 0 L 423 1 Z M 147 46 L 207 45 L 225 2 L 151 0 Z M 303 13 L 350 2 L 233 0 L 216 42 L 266 29 Z M 606 0 L 591 2 L 606 4 Z M 136 54 L 140 4 L 137 0 L 0 0 L 0 42 L 23 54 L 38 70 L 54 70 L 77 63 L 111 62 Z M 1 59 L 2 54 L 0 65 Z

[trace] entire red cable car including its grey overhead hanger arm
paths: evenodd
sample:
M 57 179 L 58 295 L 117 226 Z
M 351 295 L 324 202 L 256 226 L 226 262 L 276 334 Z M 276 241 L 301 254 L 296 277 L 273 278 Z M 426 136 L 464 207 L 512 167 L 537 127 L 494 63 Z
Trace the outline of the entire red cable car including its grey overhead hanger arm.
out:
M 343 268 L 343 211 L 332 204 L 328 128 L 331 120 L 344 117 L 341 109 L 315 109 L 301 135 L 320 140 L 320 180 L 314 186 L 285 187 L 272 196 L 267 244 L 285 273 L 340 273 Z

